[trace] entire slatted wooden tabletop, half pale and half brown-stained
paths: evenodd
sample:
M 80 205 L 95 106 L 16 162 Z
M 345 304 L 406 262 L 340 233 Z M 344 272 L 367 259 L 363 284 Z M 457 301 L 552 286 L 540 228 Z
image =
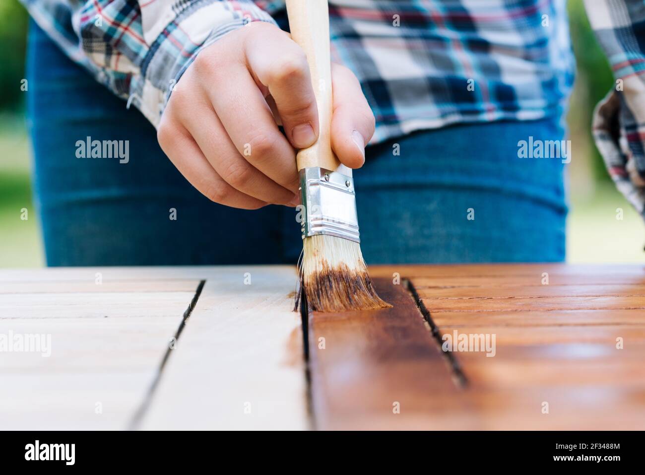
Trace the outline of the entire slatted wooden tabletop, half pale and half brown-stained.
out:
M 291 267 L 1 271 L 0 339 L 51 355 L 0 351 L 0 428 L 645 428 L 644 266 L 371 274 L 393 308 L 294 312 Z

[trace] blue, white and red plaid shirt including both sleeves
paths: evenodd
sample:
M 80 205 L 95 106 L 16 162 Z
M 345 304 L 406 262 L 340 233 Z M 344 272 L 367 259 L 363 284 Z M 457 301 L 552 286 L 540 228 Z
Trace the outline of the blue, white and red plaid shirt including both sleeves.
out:
M 204 47 L 250 21 L 288 29 L 279 0 L 21 1 L 68 56 L 154 125 Z M 624 83 L 600 106 L 595 136 L 611 175 L 622 190 L 631 187 L 643 214 L 645 193 L 628 164 L 633 177 L 645 177 L 645 7 L 642 0 L 586 3 Z M 376 117 L 373 143 L 452 123 L 559 116 L 573 83 L 564 4 L 330 0 L 332 59 L 361 81 Z

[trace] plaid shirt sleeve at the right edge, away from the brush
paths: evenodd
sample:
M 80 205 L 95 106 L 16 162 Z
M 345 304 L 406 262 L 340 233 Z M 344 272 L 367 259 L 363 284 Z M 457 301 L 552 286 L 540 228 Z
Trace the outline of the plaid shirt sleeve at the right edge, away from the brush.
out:
M 645 219 L 645 3 L 584 3 L 616 79 L 596 106 L 593 137 L 614 183 Z

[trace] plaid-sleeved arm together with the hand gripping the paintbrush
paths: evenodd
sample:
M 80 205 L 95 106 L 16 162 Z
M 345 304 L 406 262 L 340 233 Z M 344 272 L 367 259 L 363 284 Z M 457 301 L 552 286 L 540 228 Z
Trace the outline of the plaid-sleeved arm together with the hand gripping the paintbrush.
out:
M 237 208 L 297 205 L 293 148 L 317 139 L 315 96 L 303 50 L 255 3 L 21 1 L 68 56 L 143 112 L 205 196 Z M 357 168 L 374 117 L 350 70 L 335 65 L 332 83 L 332 147 Z

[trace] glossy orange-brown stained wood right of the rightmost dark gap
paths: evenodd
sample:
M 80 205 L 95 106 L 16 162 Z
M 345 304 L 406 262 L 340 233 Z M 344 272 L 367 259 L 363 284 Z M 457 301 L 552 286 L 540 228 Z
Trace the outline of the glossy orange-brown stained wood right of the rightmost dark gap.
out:
M 412 279 L 441 336 L 455 330 L 495 336 L 493 357 L 452 352 L 468 380 L 468 410 L 477 427 L 620 430 L 645 425 L 642 266 L 407 270 L 401 276 Z M 549 272 L 549 285 L 541 285 L 542 272 Z M 544 403 L 548 414 L 542 412 Z

